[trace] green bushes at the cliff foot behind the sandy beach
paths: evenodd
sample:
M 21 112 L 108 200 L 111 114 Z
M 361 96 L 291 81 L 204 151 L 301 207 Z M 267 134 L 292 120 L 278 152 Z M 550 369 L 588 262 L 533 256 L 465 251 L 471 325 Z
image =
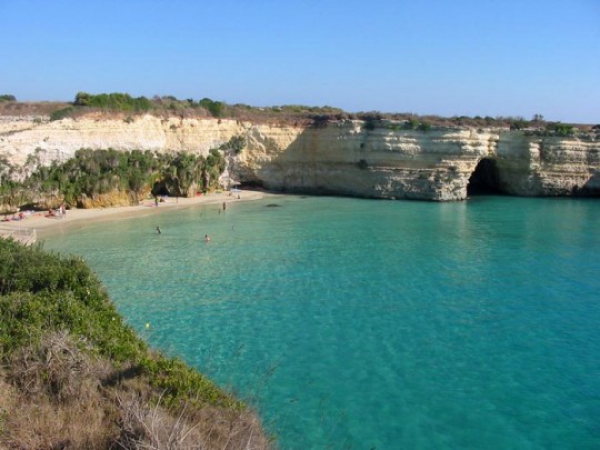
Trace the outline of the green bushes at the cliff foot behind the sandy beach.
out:
M 245 145 L 243 136 L 235 136 L 221 145 L 220 150 L 238 153 Z M 22 182 L 3 178 L 0 199 L 5 204 L 19 207 L 23 205 L 23 199 L 31 201 L 31 193 L 36 192 L 62 196 L 68 205 L 82 206 L 84 196 L 126 191 L 135 204 L 152 190 L 186 196 L 193 190 L 194 183 L 205 190 L 215 189 L 225 165 L 219 149 L 212 149 L 207 158 L 188 152 L 172 155 L 149 150 L 80 149 L 67 161 L 55 161 L 50 167 L 38 164 Z M 5 167 L 0 160 L 0 176 L 11 170 L 12 167 Z

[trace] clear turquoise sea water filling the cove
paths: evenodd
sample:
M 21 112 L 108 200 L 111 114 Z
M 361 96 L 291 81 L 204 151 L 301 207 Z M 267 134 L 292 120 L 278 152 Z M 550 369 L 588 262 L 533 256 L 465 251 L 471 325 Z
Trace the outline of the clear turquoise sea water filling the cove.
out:
M 45 248 L 282 449 L 598 449 L 599 225 L 598 200 L 285 196 Z

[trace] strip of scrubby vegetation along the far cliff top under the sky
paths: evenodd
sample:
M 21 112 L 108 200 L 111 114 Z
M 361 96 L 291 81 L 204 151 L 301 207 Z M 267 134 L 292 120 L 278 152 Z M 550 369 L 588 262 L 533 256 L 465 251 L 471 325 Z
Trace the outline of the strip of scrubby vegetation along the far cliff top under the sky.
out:
M 562 127 L 577 127 L 588 130 L 590 125 L 561 124 L 560 122 L 548 122 L 541 114 L 534 114 L 528 120 L 519 116 L 453 116 L 441 117 L 436 115 L 418 115 L 411 112 L 388 113 L 380 111 L 346 112 L 333 106 L 308 106 L 308 105 L 280 105 L 270 107 L 254 107 L 246 104 L 228 104 L 223 101 L 202 98 L 180 100 L 174 96 L 132 97 L 127 93 L 101 93 L 90 94 L 78 92 L 71 103 L 55 103 L 52 109 L 46 103 L 19 103 L 12 95 L 4 95 L 6 100 L 0 102 L 0 115 L 12 113 L 35 114 L 38 109 L 40 114 L 49 115 L 52 120 L 65 117 L 80 117 L 89 114 L 107 114 L 109 116 L 121 115 L 125 120 L 133 120 L 136 114 L 154 114 L 158 116 L 178 116 L 194 118 L 228 118 L 236 120 L 247 120 L 252 122 L 283 123 L 294 125 L 323 125 L 333 120 L 364 120 L 375 124 L 382 120 L 409 122 L 413 129 L 427 129 L 431 127 L 493 127 L 520 129 L 537 129 L 553 132 L 556 125 Z M 421 128 L 419 128 L 421 127 Z M 573 130 L 574 132 L 575 130 Z M 565 129 L 562 129 L 565 133 Z M 569 135 L 569 134 L 565 134 Z

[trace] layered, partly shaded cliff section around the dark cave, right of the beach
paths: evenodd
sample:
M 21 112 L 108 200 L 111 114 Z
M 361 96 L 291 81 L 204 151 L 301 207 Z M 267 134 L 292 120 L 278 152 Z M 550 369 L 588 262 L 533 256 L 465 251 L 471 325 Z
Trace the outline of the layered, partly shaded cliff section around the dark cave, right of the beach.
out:
M 365 125 L 253 128 L 236 171 L 274 190 L 448 201 L 467 198 L 473 174 L 483 167 L 488 187 L 508 194 L 600 194 L 598 140 Z

